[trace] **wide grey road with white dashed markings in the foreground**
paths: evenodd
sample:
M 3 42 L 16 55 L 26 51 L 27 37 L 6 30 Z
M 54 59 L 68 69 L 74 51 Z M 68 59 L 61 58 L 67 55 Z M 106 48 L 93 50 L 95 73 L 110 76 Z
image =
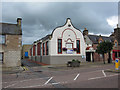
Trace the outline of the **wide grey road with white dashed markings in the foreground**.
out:
M 118 88 L 118 73 L 106 71 L 114 68 L 112 64 L 78 68 L 24 64 L 28 70 L 3 75 L 3 88 Z

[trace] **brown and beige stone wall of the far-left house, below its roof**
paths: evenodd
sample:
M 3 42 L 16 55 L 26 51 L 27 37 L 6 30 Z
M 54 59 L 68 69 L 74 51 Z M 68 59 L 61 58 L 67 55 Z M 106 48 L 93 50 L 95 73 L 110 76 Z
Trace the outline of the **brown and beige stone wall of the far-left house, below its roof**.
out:
M 5 45 L 2 45 L 4 67 L 16 67 L 21 65 L 21 39 L 21 35 L 6 35 Z

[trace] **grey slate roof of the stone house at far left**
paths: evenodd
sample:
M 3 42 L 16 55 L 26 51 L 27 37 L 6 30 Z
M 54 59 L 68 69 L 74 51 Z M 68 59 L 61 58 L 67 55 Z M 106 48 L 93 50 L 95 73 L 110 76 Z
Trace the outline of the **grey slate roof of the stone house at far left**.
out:
M 0 34 L 22 35 L 22 29 L 17 24 L 0 23 Z

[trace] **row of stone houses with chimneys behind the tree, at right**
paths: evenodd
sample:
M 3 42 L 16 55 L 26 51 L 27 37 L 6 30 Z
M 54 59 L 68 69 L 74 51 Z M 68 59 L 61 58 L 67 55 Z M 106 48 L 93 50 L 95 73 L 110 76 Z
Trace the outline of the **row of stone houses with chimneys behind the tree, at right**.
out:
M 114 33 L 109 37 L 101 35 L 90 35 L 88 30 L 85 28 L 83 31 L 84 39 L 86 42 L 86 61 L 101 61 L 103 60 L 102 55 L 96 53 L 96 49 L 99 43 L 103 41 L 109 41 L 114 44 L 111 52 L 112 59 L 120 57 L 120 28 L 114 29 Z M 108 60 L 108 53 L 105 54 L 105 60 Z

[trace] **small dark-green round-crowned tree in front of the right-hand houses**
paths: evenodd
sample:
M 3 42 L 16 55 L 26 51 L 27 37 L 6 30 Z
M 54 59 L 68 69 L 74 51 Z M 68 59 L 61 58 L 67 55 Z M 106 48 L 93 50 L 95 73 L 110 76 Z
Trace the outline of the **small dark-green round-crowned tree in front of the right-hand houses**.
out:
M 112 48 L 113 48 L 113 44 L 111 42 L 108 42 L 108 41 L 107 42 L 104 41 L 104 42 L 101 42 L 98 44 L 96 52 L 98 54 L 102 54 L 104 64 L 105 64 L 105 58 L 104 58 L 105 53 L 109 53 L 108 63 L 111 63 L 110 52 L 111 52 Z

